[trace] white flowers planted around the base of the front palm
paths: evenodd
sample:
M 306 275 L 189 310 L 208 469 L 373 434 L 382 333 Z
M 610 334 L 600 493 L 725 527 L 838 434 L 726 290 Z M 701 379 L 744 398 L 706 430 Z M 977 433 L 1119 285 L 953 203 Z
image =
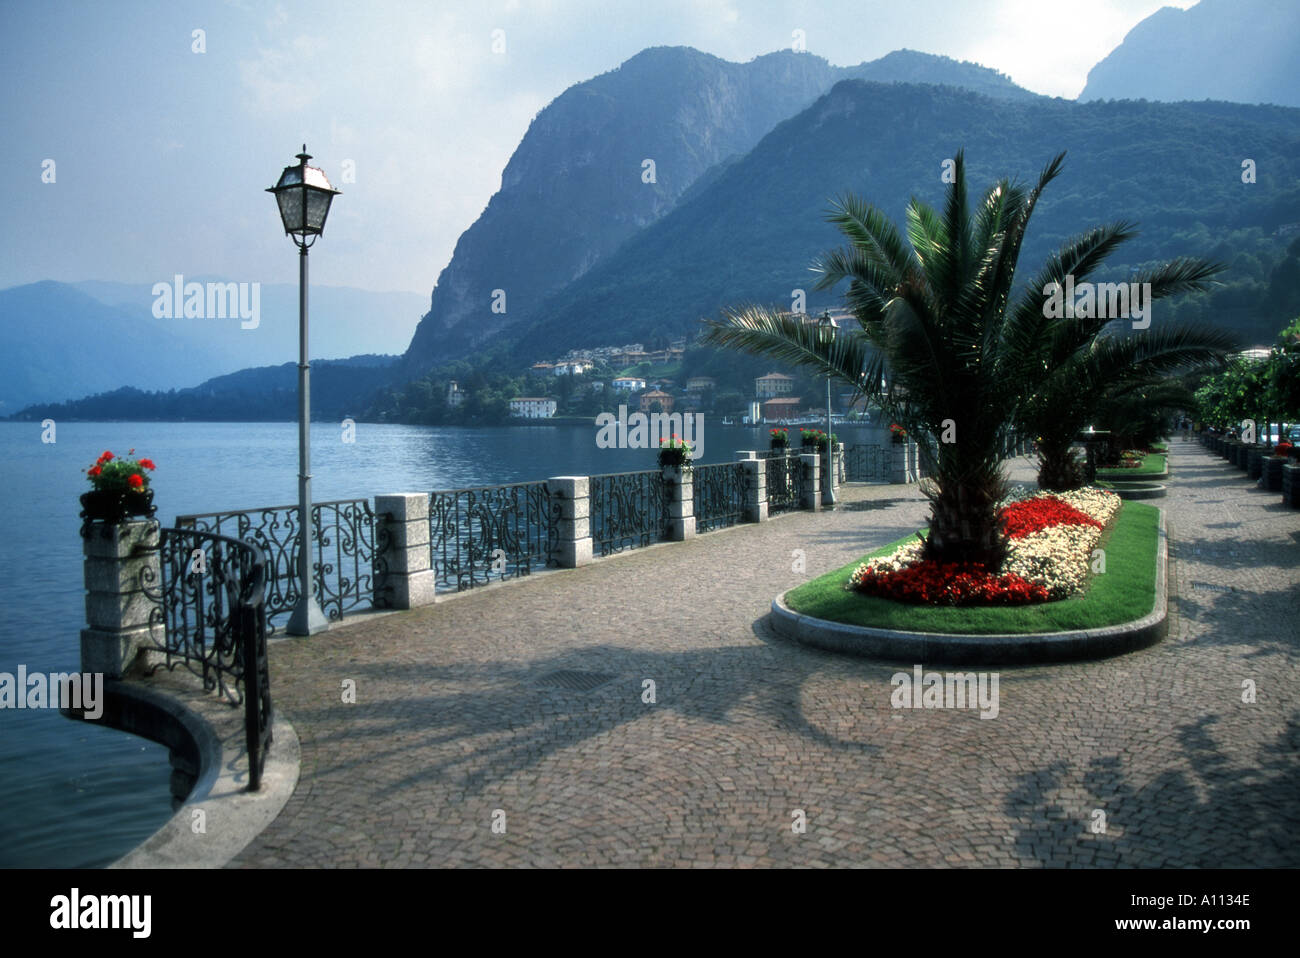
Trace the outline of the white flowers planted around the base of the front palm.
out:
M 1002 503 L 1024 502 L 1036 498 L 1056 498 L 1101 523 L 1102 529 L 1119 512 L 1121 499 L 1102 489 L 1075 489 L 1069 493 L 1017 495 L 1013 493 Z M 1053 599 L 1063 599 L 1084 590 L 1091 569 L 1092 550 L 1101 539 L 1102 529 L 1092 525 L 1050 525 L 1039 532 L 1008 541 L 1006 562 L 1001 573 L 1014 572 L 1031 582 L 1043 585 Z M 898 572 L 920 562 L 919 539 L 906 542 L 889 555 L 871 559 L 858 565 L 850 577 L 857 585 L 868 569 L 876 573 Z

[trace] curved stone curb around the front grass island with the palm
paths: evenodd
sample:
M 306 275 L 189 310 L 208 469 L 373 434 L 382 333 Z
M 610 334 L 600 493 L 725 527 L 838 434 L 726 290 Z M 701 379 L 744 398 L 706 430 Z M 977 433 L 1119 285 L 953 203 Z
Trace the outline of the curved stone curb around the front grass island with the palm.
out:
M 796 612 L 785 598 L 772 599 L 772 627 L 783 636 L 833 653 L 910 663 L 1031 666 L 1043 662 L 1101 659 L 1145 649 L 1165 637 L 1169 614 L 1169 536 L 1160 511 L 1156 550 L 1156 604 L 1130 623 L 1100 629 L 1040 632 L 1022 636 L 958 636 L 846 625 Z

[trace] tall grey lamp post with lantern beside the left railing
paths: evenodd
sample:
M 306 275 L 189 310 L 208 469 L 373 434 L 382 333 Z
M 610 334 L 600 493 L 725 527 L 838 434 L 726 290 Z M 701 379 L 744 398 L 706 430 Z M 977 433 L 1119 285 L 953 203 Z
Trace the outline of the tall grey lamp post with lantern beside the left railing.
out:
M 338 190 L 322 170 L 308 166 L 307 144 L 296 166 L 285 166 L 280 181 L 266 190 L 274 194 L 285 234 L 298 246 L 298 604 L 289 617 L 290 636 L 315 636 L 328 621 L 316 601 L 312 576 L 312 399 L 311 365 L 307 361 L 307 250 L 325 231 L 329 204 Z

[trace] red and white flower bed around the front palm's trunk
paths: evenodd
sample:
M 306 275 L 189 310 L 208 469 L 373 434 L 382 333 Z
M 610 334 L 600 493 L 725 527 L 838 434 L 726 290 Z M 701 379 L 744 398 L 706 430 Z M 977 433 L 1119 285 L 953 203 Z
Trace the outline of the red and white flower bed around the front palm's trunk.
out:
M 1009 543 L 997 575 L 979 563 L 922 559 L 922 543 L 914 539 L 858 565 L 849 585 L 914 604 L 1027 604 L 1078 595 L 1088 581 L 1092 550 L 1119 503 L 1118 495 L 1100 489 L 1008 503 L 998 512 Z

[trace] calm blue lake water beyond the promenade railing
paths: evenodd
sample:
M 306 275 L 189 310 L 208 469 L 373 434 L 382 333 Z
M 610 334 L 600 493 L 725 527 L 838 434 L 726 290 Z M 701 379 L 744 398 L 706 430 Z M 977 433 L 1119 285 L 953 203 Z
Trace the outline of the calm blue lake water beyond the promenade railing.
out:
M 797 430 L 793 430 L 797 434 Z M 845 442 L 880 430 L 836 428 Z M 294 503 L 292 422 L 65 422 L 43 443 L 39 424 L 0 422 L 8 463 L 9 532 L 0 543 L 0 672 L 79 669 L 84 625 L 78 497 L 84 471 L 112 450 L 157 463 L 159 519 Z M 602 450 L 578 425 L 463 429 L 337 422 L 312 425 L 312 497 L 382 493 L 650 469 L 653 450 Z M 797 439 L 796 439 L 797 442 Z M 706 424 L 703 463 L 764 448 L 766 428 Z M 96 867 L 121 857 L 170 815 L 166 749 L 57 710 L 0 708 L 0 866 Z

